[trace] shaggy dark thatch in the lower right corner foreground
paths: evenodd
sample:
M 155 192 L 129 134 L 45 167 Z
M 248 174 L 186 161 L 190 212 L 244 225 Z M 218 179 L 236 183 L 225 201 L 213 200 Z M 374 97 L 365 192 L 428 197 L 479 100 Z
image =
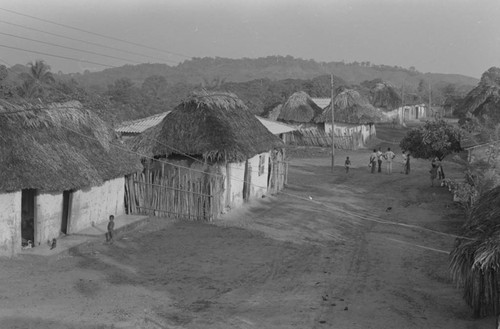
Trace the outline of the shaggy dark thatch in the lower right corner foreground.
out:
M 481 196 L 456 240 L 450 269 L 476 317 L 500 312 L 500 187 Z

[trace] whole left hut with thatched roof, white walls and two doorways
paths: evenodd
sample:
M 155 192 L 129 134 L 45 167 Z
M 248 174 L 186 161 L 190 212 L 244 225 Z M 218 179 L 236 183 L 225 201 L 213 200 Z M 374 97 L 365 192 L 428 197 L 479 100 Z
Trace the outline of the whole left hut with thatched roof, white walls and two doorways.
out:
M 139 158 L 82 104 L 0 101 L 0 131 L 0 255 L 124 214 Z

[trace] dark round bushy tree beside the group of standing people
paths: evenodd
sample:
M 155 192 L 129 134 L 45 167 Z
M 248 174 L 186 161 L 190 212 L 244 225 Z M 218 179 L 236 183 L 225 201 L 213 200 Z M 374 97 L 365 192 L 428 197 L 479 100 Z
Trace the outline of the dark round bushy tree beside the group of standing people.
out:
M 414 158 L 443 160 L 461 150 L 460 130 L 444 120 L 427 121 L 423 127 L 410 130 L 399 143 Z

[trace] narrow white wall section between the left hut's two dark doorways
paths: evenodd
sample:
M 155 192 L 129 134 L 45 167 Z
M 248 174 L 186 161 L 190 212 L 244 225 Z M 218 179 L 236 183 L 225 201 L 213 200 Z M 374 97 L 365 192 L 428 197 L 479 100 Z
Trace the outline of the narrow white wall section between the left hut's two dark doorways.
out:
M 61 234 L 62 193 L 37 194 L 35 204 L 35 247 Z

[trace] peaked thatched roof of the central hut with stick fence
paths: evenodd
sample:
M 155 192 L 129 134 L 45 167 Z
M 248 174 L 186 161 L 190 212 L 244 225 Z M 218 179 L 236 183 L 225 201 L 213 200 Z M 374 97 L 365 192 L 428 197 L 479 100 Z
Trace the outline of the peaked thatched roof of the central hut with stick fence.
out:
M 240 162 L 283 146 L 236 95 L 205 91 L 127 143 L 150 156 L 188 154 L 213 162 Z

